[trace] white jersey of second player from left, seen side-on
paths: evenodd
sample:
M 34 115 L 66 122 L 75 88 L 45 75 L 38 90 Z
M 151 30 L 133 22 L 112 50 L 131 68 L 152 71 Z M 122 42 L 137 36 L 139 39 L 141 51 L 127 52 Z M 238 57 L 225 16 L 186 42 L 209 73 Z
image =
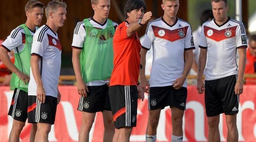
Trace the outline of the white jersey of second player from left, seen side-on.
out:
M 50 27 L 43 25 L 33 37 L 31 55 L 40 58 L 38 65 L 45 95 L 57 98 L 58 80 L 60 77 L 62 47 L 57 33 Z M 30 69 L 30 81 L 28 84 L 28 95 L 36 96 L 37 85 Z

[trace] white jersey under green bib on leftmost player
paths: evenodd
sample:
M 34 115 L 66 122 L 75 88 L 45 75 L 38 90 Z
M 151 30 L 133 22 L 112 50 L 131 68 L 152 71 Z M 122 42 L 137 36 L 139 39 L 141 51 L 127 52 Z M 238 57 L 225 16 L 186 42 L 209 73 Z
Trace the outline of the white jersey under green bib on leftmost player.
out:
M 37 28 L 35 30 L 37 30 Z M 34 36 L 34 31 L 29 29 L 29 32 L 32 36 Z M 13 50 L 15 53 L 19 53 L 23 50 L 25 42 L 26 35 L 24 29 L 21 26 L 18 26 L 13 31 L 11 31 L 11 34 L 2 43 L 2 46 L 9 52 Z

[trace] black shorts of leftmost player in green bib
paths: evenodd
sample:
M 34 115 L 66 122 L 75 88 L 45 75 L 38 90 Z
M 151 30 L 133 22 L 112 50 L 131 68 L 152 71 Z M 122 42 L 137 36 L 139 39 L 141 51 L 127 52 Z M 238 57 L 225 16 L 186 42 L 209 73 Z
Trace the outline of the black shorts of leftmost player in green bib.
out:
M 8 112 L 13 119 L 26 122 L 28 118 L 28 92 L 15 88 Z

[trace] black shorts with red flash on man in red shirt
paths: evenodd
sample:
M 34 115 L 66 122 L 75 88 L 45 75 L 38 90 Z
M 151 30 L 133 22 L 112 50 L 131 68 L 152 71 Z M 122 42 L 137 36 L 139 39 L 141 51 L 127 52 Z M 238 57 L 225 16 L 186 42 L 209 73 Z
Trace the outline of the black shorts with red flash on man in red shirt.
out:
M 110 86 L 109 98 L 115 128 L 136 127 L 138 107 L 137 86 Z

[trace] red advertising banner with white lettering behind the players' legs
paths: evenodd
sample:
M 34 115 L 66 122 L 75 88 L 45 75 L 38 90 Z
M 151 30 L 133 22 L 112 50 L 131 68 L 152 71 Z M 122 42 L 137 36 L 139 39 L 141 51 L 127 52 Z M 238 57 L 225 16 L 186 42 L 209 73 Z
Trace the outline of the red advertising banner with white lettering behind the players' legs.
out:
M 79 95 L 75 86 L 59 86 L 62 100 L 57 107 L 55 125 L 52 125 L 49 141 L 75 142 L 78 141 L 78 132 L 81 125 L 81 112 L 77 110 Z M 7 115 L 13 92 L 9 87 L 0 87 L 0 141 L 7 142 L 13 119 Z M 240 142 L 256 141 L 256 85 L 245 85 L 240 95 L 237 126 Z M 170 142 L 172 135 L 171 109 L 162 110 L 157 127 L 157 142 Z M 130 141 L 144 142 L 147 128 L 147 95 L 142 102 L 138 100 L 137 127 L 133 128 Z M 220 115 L 221 141 L 227 139 L 225 115 Z M 20 140 L 29 141 L 31 125 L 26 123 Z M 90 132 L 90 142 L 103 141 L 102 114 L 97 113 L 94 125 Z M 186 111 L 183 117 L 184 142 L 207 142 L 207 118 L 204 107 L 204 95 L 199 95 L 196 86 L 188 86 Z

